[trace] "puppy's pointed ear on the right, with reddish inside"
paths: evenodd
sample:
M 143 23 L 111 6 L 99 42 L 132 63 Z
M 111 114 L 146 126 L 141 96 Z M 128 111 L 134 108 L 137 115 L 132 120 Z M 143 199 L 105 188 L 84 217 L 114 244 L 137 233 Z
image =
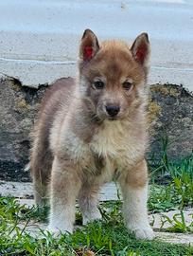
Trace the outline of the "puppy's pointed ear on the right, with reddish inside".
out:
M 147 67 L 149 63 L 150 45 L 147 33 L 142 33 L 134 40 L 131 47 L 132 56 L 135 61 Z

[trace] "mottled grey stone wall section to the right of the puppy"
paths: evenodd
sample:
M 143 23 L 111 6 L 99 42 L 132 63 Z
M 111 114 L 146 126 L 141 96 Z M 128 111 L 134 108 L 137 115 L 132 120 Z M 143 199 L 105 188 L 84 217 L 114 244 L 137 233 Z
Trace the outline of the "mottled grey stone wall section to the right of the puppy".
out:
M 180 159 L 193 151 L 193 95 L 183 86 L 150 86 L 151 120 L 149 158 L 160 160 L 167 150 L 168 159 Z

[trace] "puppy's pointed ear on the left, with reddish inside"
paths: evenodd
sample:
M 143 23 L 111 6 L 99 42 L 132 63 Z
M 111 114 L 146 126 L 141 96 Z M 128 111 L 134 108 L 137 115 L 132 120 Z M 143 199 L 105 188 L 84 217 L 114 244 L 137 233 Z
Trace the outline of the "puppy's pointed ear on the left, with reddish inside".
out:
M 90 29 L 86 29 L 81 38 L 81 44 L 79 46 L 79 58 L 84 62 L 90 61 L 99 50 L 99 44 L 94 32 Z

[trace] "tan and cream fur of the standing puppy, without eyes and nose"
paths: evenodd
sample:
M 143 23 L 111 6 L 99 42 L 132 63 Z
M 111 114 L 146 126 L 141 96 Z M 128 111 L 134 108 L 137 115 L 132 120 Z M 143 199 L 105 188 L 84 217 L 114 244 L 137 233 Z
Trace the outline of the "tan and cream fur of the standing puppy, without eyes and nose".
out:
M 146 34 L 132 48 L 117 41 L 99 46 L 96 35 L 87 29 L 79 50 L 79 80 L 61 79 L 46 93 L 34 130 L 30 167 L 37 204 L 50 191 L 48 229 L 72 232 L 76 198 L 84 224 L 100 218 L 99 188 L 116 177 L 127 227 L 139 238 L 153 237 L 144 159 L 148 59 Z M 98 80 L 104 88 L 95 87 Z M 124 82 L 131 82 L 131 87 L 125 89 Z M 112 105 L 119 108 L 114 118 L 107 111 Z

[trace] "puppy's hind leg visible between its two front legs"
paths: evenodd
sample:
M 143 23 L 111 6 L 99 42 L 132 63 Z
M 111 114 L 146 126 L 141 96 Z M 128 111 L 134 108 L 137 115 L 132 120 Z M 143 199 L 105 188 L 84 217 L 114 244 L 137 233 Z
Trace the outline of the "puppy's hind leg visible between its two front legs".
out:
M 101 219 L 100 211 L 97 208 L 98 191 L 98 185 L 84 183 L 81 186 L 79 207 L 82 212 L 83 225 Z

